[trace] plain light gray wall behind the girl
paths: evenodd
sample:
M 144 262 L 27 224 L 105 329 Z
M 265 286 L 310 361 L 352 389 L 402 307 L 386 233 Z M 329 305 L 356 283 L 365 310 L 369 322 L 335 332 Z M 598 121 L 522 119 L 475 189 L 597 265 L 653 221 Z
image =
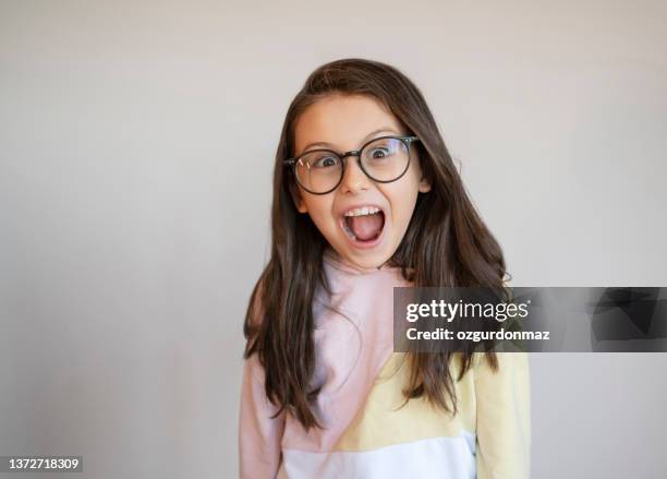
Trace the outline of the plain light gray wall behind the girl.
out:
M 666 286 L 666 24 L 662 0 L 1 0 L 0 455 L 237 475 L 272 156 L 337 58 L 423 89 L 516 286 Z M 666 355 L 531 361 L 533 477 L 665 476 Z

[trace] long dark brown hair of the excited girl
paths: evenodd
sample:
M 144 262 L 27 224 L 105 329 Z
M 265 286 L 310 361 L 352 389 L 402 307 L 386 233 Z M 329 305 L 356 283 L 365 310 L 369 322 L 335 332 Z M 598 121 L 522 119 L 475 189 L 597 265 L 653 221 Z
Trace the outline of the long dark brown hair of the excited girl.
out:
M 253 289 L 243 332 L 244 358 L 258 355 L 269 400 L 288 410 L 307 430 L 322 427 L 312 410 L 318 390 L 310 390 L 315 367 L 313 298 L 329 291 L 323 268 L 327 247 L 308 215 L 300 214 L 298 188 L 283 159 L 294 154 L 294 123 L 311 105 L 330 94 L 369 95 L 384 104 L 416 143 L 423 175 L 432 189 L 420 193 L 405 236 L 390 260 L 414 286 L 499 287 L 505 260 L 498 242 L 470 201 L 435 119 L 419 88 L 397 69 L 363 59 L 324 64 L 292 100 L 282 127 L 274 172 L 271 258 Z M 495 354 L 487 352 L 497 369 Z M 411 352 L 405 399 L 425 396 L 456 414 L 452 352 Z M 462 352 L 459 379 L 472 364 Z M 452 408 L 448 400 L 452 399 Z

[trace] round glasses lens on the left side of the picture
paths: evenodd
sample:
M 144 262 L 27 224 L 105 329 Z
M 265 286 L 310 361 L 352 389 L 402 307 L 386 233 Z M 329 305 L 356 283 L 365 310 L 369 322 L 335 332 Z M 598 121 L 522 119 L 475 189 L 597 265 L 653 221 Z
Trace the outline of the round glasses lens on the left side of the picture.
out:
M 308 152 L 296 161 L 296 179 L 303 188 L 314 193 L 333 189 L 340 181 L 342 161 L 333 152 Z

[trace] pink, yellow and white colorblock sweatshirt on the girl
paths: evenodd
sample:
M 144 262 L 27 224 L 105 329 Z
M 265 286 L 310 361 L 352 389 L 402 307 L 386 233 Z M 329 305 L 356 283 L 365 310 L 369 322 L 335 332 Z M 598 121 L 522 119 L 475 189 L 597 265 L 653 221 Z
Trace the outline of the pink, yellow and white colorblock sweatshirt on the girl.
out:
M 460 381 L 452 417 L 425 397 L 405 404 L 407 355 L 393 351 L 392 288 L 400 268 L 362 270 L 327 250 L 332 296 L 317 294 L 314 410 L 324 429 L 305 431 L 265 394 L 256 355 L 244 360 L 239 419 L 243 479 L 526 479 L 530 475 L 527 355 L 483 354 Z M 330 303 L 332 308 L 327 308 Z M 401 407 L 402 406 L 402 407 Z

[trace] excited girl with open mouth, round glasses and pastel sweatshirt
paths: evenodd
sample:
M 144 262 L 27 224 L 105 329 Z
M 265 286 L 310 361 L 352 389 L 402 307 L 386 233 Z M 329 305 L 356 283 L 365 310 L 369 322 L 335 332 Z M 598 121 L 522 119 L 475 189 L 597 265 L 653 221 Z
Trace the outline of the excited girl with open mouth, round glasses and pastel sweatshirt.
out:
M 359 59 L 311 74 L 271 225 L 244 324 L 241 477 L 529 477 L 525 354 L 393 351 L 393 287 L 506 274 L 409 79 Z

